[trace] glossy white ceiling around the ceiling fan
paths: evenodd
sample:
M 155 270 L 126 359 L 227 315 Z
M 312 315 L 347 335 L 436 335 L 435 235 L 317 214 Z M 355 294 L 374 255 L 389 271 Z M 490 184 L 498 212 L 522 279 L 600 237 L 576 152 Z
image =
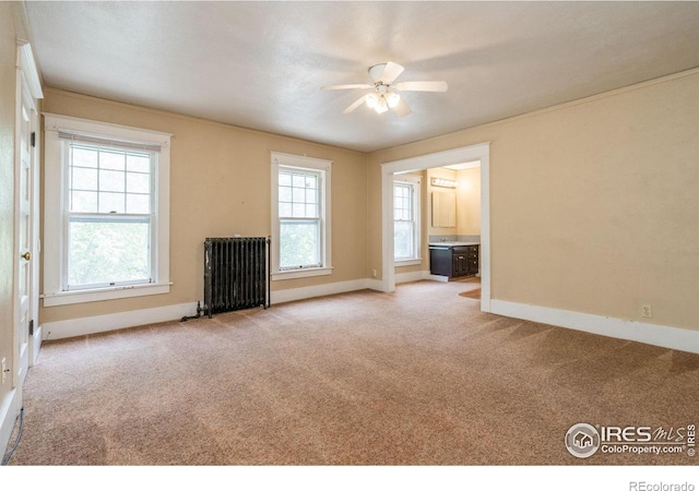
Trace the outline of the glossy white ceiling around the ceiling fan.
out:
M 45 85 L 363 152 L 699 67 L 699 2 L 27 1 Z M 445 80 L 342 111 L 369 65 Z

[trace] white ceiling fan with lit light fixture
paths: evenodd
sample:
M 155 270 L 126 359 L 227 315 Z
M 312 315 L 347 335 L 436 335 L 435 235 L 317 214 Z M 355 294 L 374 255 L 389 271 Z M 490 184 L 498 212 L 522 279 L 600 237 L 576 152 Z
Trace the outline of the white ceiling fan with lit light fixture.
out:
M 372 84 L 325 85 L 321 88 L 323 91 L 374 88 L 369 94 L 365 94 L 352 103 L 342 113 L 347 115 L 362 106 L 362 103 L 366 103 L 367 106 L 379 113 L 394 109 L 400 117 L 410 115 L 412 110 L 398 92 L 447 92 L 447 82 L 443 81 L 399 82 L 394 84 L 393 82 L 403 73 L 403 70 L 405 69 L 400 64 L 389 61 L 388 63 L 375 64 L 369 68 L 369 76 L 374 82 Z

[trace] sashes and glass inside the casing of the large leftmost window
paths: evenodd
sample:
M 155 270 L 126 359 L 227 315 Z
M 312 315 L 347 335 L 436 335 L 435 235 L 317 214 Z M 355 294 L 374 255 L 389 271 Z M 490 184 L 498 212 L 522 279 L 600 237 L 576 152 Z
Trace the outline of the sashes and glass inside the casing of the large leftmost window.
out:
M 67 155 L 63 290 L 155 283 L 154 152 L 78 143 Z

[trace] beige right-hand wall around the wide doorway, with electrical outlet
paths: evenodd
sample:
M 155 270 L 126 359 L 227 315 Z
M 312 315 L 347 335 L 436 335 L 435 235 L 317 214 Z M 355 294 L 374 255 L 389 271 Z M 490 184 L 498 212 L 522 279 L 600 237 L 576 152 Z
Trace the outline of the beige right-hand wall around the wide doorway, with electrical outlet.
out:
M 699 330 L 698 130 L 695 70 L 376 152 L 369 209 L 381 163 L 490 142 L 494 299 Z

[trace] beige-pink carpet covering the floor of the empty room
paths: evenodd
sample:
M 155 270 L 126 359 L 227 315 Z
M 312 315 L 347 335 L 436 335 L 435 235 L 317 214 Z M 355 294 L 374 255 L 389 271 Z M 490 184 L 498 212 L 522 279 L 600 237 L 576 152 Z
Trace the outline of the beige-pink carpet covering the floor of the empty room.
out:
M 699 463 L 564 444 L 579 422 L 696 424 L 698 355 L 483 313 L 467 287 L 47 342 L 10 465 Z

